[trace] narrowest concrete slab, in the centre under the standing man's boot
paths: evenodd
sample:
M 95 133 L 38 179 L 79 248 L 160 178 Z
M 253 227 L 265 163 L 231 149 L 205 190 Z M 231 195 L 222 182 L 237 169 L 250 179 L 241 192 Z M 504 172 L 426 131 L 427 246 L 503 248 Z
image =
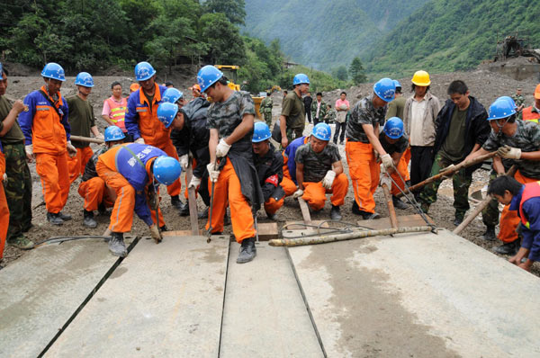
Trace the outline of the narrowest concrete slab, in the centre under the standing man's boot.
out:
M 284 247 L 257 245 L 257 257 L 237 264 L 230 245 L 220 357 L 322 357 Z

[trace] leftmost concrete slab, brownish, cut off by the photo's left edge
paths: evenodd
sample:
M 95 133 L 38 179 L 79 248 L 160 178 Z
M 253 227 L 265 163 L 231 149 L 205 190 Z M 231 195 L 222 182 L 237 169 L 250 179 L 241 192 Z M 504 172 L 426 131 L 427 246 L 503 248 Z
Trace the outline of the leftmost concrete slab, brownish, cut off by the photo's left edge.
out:
M 83 239 L 40 246 L 0 271 L 0 356 L 39 355 L 117 261 L 103 239 Z

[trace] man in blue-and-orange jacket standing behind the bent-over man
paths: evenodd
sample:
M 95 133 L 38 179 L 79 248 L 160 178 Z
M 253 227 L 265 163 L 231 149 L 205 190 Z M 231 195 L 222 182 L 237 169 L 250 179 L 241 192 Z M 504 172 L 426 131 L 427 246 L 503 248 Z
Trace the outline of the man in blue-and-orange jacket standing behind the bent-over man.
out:
M 156 70 L 148 62 L 139 62 L 135 67 L 135 78 L 140 88 L 130 94 L 125 117 L 126 129 L 135 143 L 148 144 L 166 152 L 169 157 L 178 160 L 176 148 L 170 139 L 170 129 L 165 128 L 157 119 L 157 107 L 162 102 L 166 86 L 157 85 Z M 167 187 L 171 204 L 177 210 L 184 210 L 184 202 L 178 196 L 182 184 L 180 179 Z

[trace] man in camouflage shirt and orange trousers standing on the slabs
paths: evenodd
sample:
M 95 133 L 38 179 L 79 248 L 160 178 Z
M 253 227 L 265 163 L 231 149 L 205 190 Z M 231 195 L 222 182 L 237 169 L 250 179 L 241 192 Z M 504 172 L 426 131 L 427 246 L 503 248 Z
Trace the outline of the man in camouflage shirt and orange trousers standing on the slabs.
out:
M 216 67 L 202 67 L 197 82 L 201 92 L 212 99 L 207 112 L 210 129 L 207 170 L 213 204 L 206 228 L 211 228 L 212 233 L 223 230 L 223 216 L 229 202 L 232 231 L 241 244 L 237 263 L 244 264 L 257 255 L 253 215 L 264 202 L 251 150 L 255 104 L 246 92 L 230 89 L 227 78 Z

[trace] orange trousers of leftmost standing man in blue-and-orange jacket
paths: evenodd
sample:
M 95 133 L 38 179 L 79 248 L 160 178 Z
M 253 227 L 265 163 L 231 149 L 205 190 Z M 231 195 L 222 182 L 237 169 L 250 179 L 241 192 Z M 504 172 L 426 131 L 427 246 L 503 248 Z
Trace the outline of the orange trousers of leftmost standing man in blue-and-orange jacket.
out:
M 57 214 L 67 202 L 69 194 L 69 169 L 67 154 L 36 154 L 36 172 L 41 178 L 47 211 Z

